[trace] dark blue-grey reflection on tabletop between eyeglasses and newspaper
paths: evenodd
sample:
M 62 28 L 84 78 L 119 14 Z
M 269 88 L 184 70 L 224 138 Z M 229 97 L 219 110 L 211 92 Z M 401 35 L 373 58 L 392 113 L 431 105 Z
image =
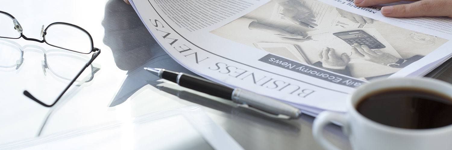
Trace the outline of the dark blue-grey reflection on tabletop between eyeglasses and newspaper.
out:
M 113 53 L 116 66 L 127 71 L 127 78 L 113 98 L 110 107 L 122 104 L 133 93 L 151 82 L 155 86 L 160 79 L 144 67 L 167 68 L 177 72 L 194 74 L 175 62 L 152 38 L 132 6 L 122 0 L 110 0 L 105 6 L 104 43 Z

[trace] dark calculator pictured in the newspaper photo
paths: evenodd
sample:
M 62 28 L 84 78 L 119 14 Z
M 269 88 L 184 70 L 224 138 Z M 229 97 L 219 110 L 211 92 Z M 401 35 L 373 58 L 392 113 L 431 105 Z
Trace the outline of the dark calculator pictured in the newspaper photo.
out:
M 375 37 L 369 35 L 363 30 L 337 32 L 333 33 L 333 35 L 339 37 L 352 46 L 354 43 L 358 43 L 360 45 L 367 45 L 370 49 L 382 49 L 386 47 L 385 45 L 381 44 L 381 42 L 378 41 Z

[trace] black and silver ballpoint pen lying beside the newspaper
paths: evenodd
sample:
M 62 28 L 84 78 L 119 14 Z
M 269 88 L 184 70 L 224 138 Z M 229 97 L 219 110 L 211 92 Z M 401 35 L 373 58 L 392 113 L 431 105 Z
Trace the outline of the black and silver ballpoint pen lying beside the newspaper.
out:
M 300 109 L 251 91 L 223 86 L 206 79 L 162 68 L 144 69 L 170 82 L 177 83 L 179 86 L 184 86 L 195 91 L 221 97 L 226 100 L 232 100 L 258 111 L 275 114 L 279 116 L 279 118 L 298 118 L 301 114 Z

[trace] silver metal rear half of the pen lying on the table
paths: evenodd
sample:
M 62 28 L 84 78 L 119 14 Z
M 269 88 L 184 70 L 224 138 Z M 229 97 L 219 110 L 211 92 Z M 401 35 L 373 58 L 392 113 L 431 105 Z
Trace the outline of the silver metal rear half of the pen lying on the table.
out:
M 268 113 L 284 114 L 290 116 L 291 118 L 298 118 L 298 116 L 301 114 L 300 109 L 297 109 L 291 105 L 288 105 L 271 97 L 259 95 L 240 88 L 236 88 L 233 91 L 232 100 L 240 104 L 246 104 L 253 108 L 266 111 Z

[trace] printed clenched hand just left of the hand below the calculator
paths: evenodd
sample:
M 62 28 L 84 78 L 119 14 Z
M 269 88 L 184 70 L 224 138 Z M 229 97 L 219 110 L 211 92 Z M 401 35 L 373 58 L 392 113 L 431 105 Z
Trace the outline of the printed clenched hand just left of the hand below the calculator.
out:
M 350 58 L 346 53 L 342 55 L 336 55 L 334 49 L 326 48 L 324 50 L 319 51 L 320 62 L 322 62 L 322 66 L 325 68 L 337 69 L 338 67 L 345 68 L 347 64 L 350 62 Z M 331 67 L 332 66 L 332 67 Z

